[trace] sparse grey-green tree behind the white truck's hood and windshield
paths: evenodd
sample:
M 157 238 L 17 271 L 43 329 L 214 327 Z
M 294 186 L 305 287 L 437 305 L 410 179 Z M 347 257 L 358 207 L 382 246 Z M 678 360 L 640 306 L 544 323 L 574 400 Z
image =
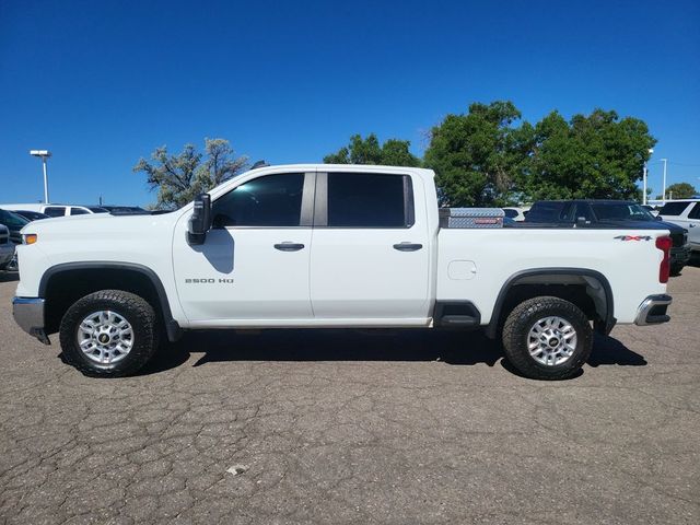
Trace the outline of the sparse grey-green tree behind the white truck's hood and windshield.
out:
M 186 144 L 176 155 L 165 145 L 141 158 L 135 173 L 145 173 L 151 190 L 158 190 L 155 209 L 173 210 L 190 202 L 197 194 L 208 191 L 247 167 L 246 156 L 235 156 L 228 140 L 205 139 L 205 152 Z

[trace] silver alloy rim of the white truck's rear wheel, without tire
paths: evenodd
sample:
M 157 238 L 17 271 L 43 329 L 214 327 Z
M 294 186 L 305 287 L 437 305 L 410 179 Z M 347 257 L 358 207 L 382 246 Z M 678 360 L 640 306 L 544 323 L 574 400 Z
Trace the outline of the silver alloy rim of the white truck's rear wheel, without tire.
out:
M 576 330 L 561 317 L 542 317 L 527 335 L 527 350 L 538 363 L 555 366 L 569 361 L 576 349 Z

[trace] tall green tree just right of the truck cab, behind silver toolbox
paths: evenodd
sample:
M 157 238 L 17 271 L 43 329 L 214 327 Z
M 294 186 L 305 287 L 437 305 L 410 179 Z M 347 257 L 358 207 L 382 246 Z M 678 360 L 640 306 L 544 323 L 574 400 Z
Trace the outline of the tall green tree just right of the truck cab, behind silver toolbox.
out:
M 515 183 L 526 168 L 533 128 L 516 126 L 512 102 L 474 103 L 433 127 L 424 165 L 435 171 L 443 206 L 505 206 L 520 200 Z

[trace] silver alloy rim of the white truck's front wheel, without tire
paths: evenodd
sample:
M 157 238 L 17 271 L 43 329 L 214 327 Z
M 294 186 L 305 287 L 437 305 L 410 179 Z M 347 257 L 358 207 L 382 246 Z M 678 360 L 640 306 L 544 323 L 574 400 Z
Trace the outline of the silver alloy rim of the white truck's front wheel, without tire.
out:
M 78 327 L 78 346 L 98 364 L 113 364 L 133 347 L 133 329 L 127 319 L 109 310 L 93 312 Z

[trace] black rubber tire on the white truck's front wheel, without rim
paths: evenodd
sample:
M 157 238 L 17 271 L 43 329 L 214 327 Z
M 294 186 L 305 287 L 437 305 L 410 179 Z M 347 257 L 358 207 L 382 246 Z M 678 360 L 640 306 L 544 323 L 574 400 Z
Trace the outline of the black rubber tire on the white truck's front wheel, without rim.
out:
M 128 320 L 133 330 L 133 346 L 128 354 L 113 364 L 98 364 L 80 349 L 77 332 L 80 323 L 95 311 L 112 311 Z M 153 307 L 139 295 L 121 290 L 101 290 L 78 300 L 68 308 L 60 325 L 63 359 L 90 377 L 121 377 L 141 369 L 160 343 L 159 318 Z

